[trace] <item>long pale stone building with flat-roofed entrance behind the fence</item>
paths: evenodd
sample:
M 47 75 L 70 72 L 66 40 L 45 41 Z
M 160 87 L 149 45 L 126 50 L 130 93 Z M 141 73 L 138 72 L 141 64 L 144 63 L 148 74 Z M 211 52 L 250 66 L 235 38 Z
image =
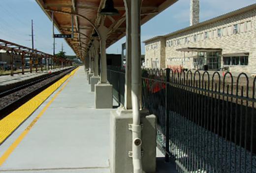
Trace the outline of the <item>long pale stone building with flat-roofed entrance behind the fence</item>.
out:
M 199 0 L 192 1 L 199 20 Z M 144 41 L 146 67 L 256 72 L 256 3 L 191 25 Z

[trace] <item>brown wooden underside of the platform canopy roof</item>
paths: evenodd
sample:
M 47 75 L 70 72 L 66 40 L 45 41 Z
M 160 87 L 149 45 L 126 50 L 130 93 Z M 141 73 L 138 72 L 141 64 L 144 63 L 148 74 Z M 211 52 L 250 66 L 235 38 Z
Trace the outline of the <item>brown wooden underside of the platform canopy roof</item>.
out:
M 90 44 L 94 33 L 92 24 L 99 26 L 101 20 L 109 30 L 106 47 L 125 36 L 126 12 L 124 0 L 113 0 L 115 8 L 119 10 L 118 16 L 102 16 L 99 11 L 104 7 L 105 0 L 36 0 L 47 16 L 52 18 L 62 34 L 71 33 L 71 13 L 74 16 L 74 39 L 65 38 L 75 54 L 82 58 Z M 178 0 L 142 0 L 141 25 L 155 17 L 161 11 Z M 86 20 L 85 18 L 88 20 Z

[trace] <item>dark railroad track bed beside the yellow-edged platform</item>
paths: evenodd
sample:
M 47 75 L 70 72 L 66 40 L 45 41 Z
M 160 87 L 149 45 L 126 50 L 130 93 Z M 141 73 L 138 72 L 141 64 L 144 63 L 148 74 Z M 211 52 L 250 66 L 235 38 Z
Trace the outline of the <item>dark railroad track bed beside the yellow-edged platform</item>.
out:
M 0 119 L 15 111 L 32 97 L 60 80 L 66 74 L 70 73 L 73 69 L 74 67 L 64 69 L 32 81 L 28 84 L 15 86 L 0 92 Z

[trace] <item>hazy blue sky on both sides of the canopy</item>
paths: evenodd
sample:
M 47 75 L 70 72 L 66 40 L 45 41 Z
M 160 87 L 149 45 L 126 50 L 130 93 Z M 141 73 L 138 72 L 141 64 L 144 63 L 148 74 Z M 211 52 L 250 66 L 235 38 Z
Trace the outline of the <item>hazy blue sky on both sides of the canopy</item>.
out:
M 53 52 L 52 24 L 35 0 L 0 0 L 0 39 L 31 46 L 31 20 L 34 22 L 35 48 Z M 200 0 L 200 22 L 256 3 L 256 0 Z M 141 28 L 141 41 L 189 26 L 190 0 L 179 0 Z M 107 53 L 121 53 L 122 38 L 107 49 Z M 64 45 L 68 55 L 74 55 L 64 39 L 56 39 L 56 52 Z M 144 45 L 142 44 L 142 54 Z

